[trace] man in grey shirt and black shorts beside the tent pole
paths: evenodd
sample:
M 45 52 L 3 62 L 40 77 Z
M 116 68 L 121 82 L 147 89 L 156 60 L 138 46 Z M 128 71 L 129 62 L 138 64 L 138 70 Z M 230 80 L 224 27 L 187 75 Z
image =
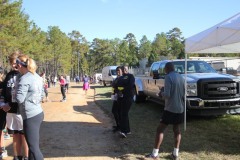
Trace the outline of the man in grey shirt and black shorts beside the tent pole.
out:
M 165 84 L 158 95 L 165 99 L 165 108 L 157 128 L 153 151 L 146 155 L 146 157 L 158 157 L 159 148 L 164 137 L 164 131 L 167 126 L 171 124 L 173 125 L 174 132 L 174 149 L 171 153 L 171 157 L 177 160 L 181 141 L 180 124 L 184 121 L 185 83 L 183 77 L 175 72 L 174 65 L 171 62 L 167 62 L 164 69 L 166 72 Z

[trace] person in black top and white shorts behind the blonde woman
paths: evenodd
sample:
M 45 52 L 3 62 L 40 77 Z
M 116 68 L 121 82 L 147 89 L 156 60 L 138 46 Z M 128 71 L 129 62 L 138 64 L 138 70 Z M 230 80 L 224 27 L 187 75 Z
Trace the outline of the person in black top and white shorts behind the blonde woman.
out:
M 5 105 L 2 106 L 2 110 L 7 112 L 6 124 L 8 134 L 13 135 L 13 160 L 27 160 L 28 146 L 23 133 L 23 119 L 20 115 L 19 106 L 16 101 L 18 78 L 20 76 L 20 73 L 16 67 L 16 59 L 19 54 L 19 52 L 14 52 L 9 56 L 9 63 L 12 67 L 12 70 L 6 75 L 6 78 L 3 82 L 2 96 L 4 97 Z

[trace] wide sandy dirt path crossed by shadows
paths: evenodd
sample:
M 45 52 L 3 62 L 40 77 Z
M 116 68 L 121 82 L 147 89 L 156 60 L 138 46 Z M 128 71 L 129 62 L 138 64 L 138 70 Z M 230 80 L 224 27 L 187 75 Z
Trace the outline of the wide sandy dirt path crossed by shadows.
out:
M 61 98 L 60 88 L 52 87 L 51 102 L 43 103 L 45 118 L 40 146 L 45 160 L 117 159 L 111 119 L 94 103 L 94 90 L 85 95 L 81 84 L 72 83 L 67 102 L 60 102 Z M 11 142 L 6 140 L 9 155 L 12 155 Z

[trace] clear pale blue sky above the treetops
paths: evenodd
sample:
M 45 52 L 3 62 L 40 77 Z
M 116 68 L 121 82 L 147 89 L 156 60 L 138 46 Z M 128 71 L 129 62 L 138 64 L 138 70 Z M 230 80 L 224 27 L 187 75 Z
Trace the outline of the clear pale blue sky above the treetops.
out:
M 90 42 L 133 33 L 139 42 L 174 27 L 188 38 L 239 13 L 239 6 L 240 0 L 23 0 L 22 8 L 43 31 L 77 30 Z

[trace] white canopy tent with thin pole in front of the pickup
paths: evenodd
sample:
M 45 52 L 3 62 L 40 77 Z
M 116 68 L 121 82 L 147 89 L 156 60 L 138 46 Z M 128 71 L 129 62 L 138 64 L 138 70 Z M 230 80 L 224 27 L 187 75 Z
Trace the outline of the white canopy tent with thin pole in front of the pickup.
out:
M 240 53 L 240 13 L 185 40 L 185 99 L 187 54 Z M 184 129 L 186 130 L 186 102 Z

